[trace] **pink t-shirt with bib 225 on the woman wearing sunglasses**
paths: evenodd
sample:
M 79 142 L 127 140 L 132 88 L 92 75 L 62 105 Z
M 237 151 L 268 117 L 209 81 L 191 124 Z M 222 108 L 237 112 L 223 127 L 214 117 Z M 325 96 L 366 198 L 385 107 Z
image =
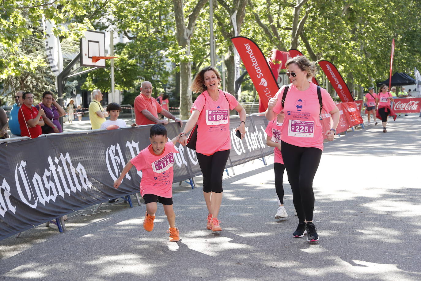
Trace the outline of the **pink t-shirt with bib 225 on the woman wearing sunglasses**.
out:
M 282 110 L 282 95 L 285 86 L 276 93 L 278 98 L 273 111 L 279 113 Z M 323 108 L 330 112 L 336 108 L 335 102 L 325 89 L 321 89 Z M 317 86 L 310 83 L 305 91 L 298 91 L 296 86 L 290 84 L 285 98 L 283 109 L 285 119 L 281 128 L 281 139 L 290 145 L 299 147 L 316 147 L 323 150 L 322 125 L 320 123 L 320 105 L 317 97 Z

